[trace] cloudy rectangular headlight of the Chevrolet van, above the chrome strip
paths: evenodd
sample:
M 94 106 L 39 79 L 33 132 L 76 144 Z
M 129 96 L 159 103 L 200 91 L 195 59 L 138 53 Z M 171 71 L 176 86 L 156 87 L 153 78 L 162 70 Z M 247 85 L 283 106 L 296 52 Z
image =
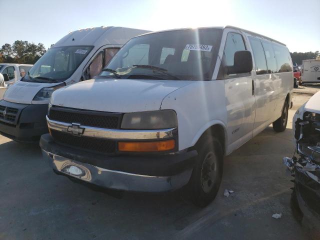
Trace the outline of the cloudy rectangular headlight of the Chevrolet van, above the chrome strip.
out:
M 166 129 L 177 125 L 176 113 L 173 110 L 125 113 L 121 122 L 123 129 Z

